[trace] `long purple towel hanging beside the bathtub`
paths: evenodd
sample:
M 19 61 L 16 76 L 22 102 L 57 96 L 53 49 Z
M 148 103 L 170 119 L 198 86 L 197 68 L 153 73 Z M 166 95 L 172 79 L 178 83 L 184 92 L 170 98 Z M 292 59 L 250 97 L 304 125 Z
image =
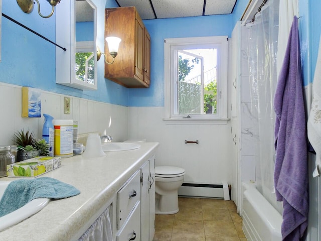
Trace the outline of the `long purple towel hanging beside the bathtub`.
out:
M 297 17 L 290 30 L 274 96 L 277 201 L 283 201 L 282 240 L 301 240 L 307 227 L 307 138 Z

